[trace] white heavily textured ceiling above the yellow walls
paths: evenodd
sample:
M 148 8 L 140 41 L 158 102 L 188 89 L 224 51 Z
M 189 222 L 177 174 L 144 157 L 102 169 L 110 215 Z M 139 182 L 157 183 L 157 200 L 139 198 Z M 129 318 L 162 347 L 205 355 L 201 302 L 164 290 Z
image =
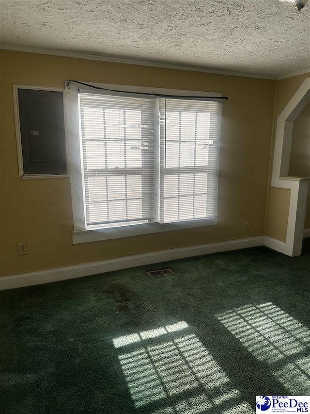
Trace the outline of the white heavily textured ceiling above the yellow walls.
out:
M 283 76 L 310 64 L 310 6 L 278 0 L 0 0 L 4 48 Z

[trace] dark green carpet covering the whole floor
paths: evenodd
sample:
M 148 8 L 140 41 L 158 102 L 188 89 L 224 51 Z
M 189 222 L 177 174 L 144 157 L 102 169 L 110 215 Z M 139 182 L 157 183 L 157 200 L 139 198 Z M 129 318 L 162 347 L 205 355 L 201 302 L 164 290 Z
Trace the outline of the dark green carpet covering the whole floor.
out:
M 168 265 L 1 292 L 1 414 L 243 414 L 310 394 L 310 239 L 296 258 Z

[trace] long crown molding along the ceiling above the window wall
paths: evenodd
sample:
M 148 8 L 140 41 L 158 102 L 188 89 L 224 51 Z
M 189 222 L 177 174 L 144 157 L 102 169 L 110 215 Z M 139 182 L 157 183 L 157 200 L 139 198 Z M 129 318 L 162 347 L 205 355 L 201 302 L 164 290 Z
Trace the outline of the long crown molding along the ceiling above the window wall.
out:
M 217 75 L 229 75 L 229 76 L 239 76 L 239 77 L 246 77 L 246 78 L 277 80 L 277 76 L 271 76 L 271 75 L 243 73 L 243 72 L 231 71 L 231 70 L 225 70 L 225 69 L 213 69 L 213 68 L 204 67 L 204 66 L 190 66 L 190 65 L 164 63 L 164 62 L 152 62 L 152 61 L 144 61 L 144 60 L 116 58 L 116 57 L 110 57 L 110 56 L 97 56 L 97 55 L 92 55 L 92 54 L 67 52 L 67 51 L 54 50 L 54 49 L 31 48 L 31 47 L 27 47 L 27 46 L 24 47 L 24 46 L 19 46 L 19 45 L 2 44 L 0 49 L 27 52 L 27 53 L 47 54 L 47 55 L 53 55 L 53 56 L 72 57 L 76 59 L 99 60 L 103 62 L 122 63 L 125 65 L 153 66 L 153 67 L 163 67 L 166 69 L 177 69 L 177 70 L 186 70 L 186 71 L 192 71 L 192 72 L 213 73 Z

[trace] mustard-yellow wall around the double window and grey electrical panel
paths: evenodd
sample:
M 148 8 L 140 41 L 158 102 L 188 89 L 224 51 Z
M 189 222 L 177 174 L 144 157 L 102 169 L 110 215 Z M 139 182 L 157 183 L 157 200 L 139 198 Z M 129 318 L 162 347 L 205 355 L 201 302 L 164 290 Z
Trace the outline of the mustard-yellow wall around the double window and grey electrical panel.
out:
M 1 51 L 1 274 L 263 235 L 275 81 Z M 13 84 L 64 80 L 222 92 L 218 224 L 72 245 L 69 179 L 18 177 Z M 248 233 L 244 223 L 250 223 Z M 16 243 L 26 241 L 28 255 Z

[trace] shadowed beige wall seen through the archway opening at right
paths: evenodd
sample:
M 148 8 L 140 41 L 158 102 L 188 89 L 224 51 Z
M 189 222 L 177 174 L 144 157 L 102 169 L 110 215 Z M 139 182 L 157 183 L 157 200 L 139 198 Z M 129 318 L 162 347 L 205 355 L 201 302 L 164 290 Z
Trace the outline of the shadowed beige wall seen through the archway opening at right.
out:
M 310 102 L 294 120 L 289 175 L 310 177 Z M 310 228 L 310 191 L 308 191 L 305 229 Z

